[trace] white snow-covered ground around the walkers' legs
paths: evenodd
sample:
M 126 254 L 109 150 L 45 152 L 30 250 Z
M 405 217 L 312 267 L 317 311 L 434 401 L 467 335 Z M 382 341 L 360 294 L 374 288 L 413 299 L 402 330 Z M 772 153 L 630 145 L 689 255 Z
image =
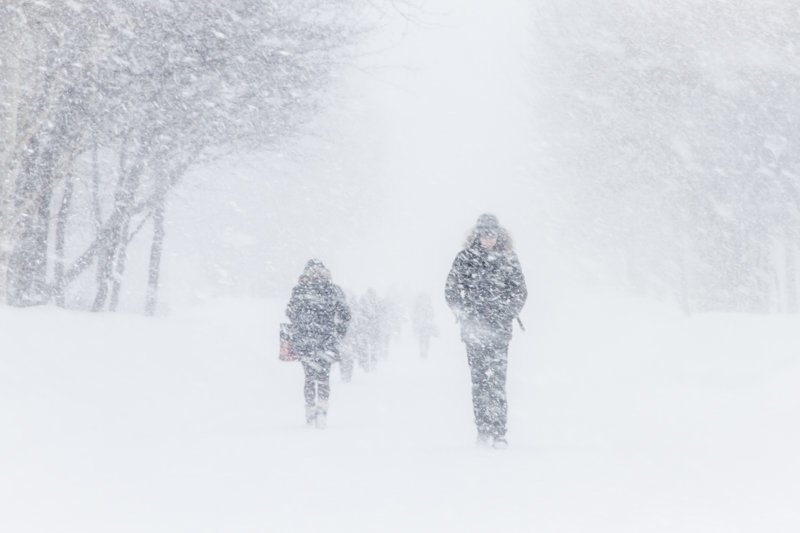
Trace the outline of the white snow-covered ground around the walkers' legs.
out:
M 0 308 L 0 531 L 800 531 L 796 316 L 529 312 L 492 450 L 441 313 L 428 359 L 405 339 L 374 374 L 334 369 L 323 431 L 282 312 Z

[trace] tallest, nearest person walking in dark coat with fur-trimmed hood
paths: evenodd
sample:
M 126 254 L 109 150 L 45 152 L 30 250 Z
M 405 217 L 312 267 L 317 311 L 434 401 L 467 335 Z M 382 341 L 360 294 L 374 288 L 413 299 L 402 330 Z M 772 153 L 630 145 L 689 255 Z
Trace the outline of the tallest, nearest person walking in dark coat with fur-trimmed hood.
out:
M 483 214 L 447 276 L 445 298 L 461 325 L 472 377 L 478 442 L 497 448 L 506 441 L 506 373 L 512 324 L 528 290 L 508 232 Z

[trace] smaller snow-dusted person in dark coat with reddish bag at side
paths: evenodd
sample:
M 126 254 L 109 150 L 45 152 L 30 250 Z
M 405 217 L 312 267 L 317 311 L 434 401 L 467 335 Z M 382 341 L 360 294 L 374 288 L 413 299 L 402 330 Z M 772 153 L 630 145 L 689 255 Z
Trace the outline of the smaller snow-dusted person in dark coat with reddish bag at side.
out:
M 291 320 L 292 348 L 303 364 L 306 422 L 324 428 L 330 396 L 331 364 L 338 360 L 339 341 L 347 332 L 350 309 L 344 292 L 331 281 L 322 261 L 306 263 L 286 307 Z

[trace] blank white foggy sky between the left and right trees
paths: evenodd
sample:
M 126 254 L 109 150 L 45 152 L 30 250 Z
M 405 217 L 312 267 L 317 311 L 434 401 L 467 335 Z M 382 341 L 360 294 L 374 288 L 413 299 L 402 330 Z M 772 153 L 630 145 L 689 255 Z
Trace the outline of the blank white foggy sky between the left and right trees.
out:
M 202 243 L 205 257 L 195 264 L 205 274 L 195 274 L 230 280 L 233 291 L 283 296 L 305 261 L 320 257 L 346 287 L 438 298 L 486 211 L 535 253 L 552 213 L 542 213 L 548 195 L 531 161 L 525 6 L 442 1 L 389 12 L 310 136 L 277 156 L 199 171 L 215 192 L 182 191 L 188 212 L 175 216 L 172 231 Z M 214 187 L 220 175 L 242 186 Z M 214 205 L 218 224 L 194 224 L 194 201 Z M 213 239 L 203 242 L 209 230 Z M 183 258 L 172 260 L 180 286 Z

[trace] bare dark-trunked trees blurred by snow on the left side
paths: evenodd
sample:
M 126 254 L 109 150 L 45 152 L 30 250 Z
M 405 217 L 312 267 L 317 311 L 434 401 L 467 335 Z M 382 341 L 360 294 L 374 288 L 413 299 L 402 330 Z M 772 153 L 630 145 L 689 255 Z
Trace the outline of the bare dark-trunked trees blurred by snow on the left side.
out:
M 219 5 L 217 5 L 219 4 Z M 149 240 L 155 312 L 169 191 L 290 135 L 365 31 L 357 1 L 12 0 L 0 6 L 0 300 L 115 310 Z

